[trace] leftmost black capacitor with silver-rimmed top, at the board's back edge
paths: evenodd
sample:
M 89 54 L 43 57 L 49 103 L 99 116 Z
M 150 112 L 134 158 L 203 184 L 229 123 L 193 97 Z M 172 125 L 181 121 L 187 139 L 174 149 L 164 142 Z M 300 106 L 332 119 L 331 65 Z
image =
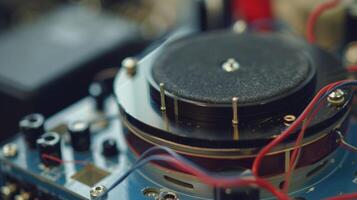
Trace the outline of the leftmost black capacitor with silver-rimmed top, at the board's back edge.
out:
M 29 114 L 19 122 L 19 129 L 30 148 L 36 148 L 37 139 L 44 134 L 44 123 L 44 116 L 38 113 Z

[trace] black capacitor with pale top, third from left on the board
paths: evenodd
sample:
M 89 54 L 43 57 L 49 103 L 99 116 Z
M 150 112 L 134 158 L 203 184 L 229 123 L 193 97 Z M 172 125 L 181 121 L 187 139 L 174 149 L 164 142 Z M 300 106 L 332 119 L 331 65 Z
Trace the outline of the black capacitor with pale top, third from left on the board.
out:
M 90 149 L 90 126 L 88 122 L 75 121 L 68 125 L 72 147 L 75 151 L 88 151 Z

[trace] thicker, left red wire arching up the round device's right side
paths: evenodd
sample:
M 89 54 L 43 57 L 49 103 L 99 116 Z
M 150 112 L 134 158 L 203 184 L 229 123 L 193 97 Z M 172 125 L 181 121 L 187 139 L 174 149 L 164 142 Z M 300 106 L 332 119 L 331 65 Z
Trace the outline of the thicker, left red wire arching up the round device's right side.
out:
M 283 140 L 285 140 L 294 130 L 298 128 L 298 126 L 306 119 L 307 115 L 314 108 L 315 104 L 319 101 L 321 96 L 323 96 L 331 87 L 334 87 L 344 81 L 338 81 L 335 83 L 331 83 L 324 88 L 322 88 L 317 95 L 313 98 L 313 100 L 309 103 L 309 105 L 305 108 L 302 114 L 296 119 L 296 121 L 291 124 L 285 131 L 283 131 L 278 137 L 276 137 L 273 141 L 271 141 L 268 145 L 263 147 L 261 151 L 258 153 L 255 158 L 252 166 L 252 172 L 255 176 L 259 175 L 259 167 L 264 156 L 276 145 L 280 144 Z

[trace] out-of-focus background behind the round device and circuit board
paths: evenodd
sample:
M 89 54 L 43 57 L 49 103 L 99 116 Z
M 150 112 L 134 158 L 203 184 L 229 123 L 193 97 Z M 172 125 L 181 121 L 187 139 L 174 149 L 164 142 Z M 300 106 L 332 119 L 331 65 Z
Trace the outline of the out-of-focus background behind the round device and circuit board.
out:
M 325 0 L 0 0 L 0 139 L 25 114 L 52 115 L 111 81 L 124 58 L 177 32 L 232 28 L 305 37 Z M 357 1 L 324 12 L 317 44 L 356 64 Z M 105 81 L 104 81 L 105 80 Z

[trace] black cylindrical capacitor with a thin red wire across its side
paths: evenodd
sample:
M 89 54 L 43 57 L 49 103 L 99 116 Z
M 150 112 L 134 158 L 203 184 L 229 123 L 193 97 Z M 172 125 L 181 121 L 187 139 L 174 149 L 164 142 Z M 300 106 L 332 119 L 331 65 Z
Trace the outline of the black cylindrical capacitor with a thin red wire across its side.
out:
M 41 162 L 47 167 L 61 164 L 61 137 L 56 132 L 47 132 L 37 140 Z

